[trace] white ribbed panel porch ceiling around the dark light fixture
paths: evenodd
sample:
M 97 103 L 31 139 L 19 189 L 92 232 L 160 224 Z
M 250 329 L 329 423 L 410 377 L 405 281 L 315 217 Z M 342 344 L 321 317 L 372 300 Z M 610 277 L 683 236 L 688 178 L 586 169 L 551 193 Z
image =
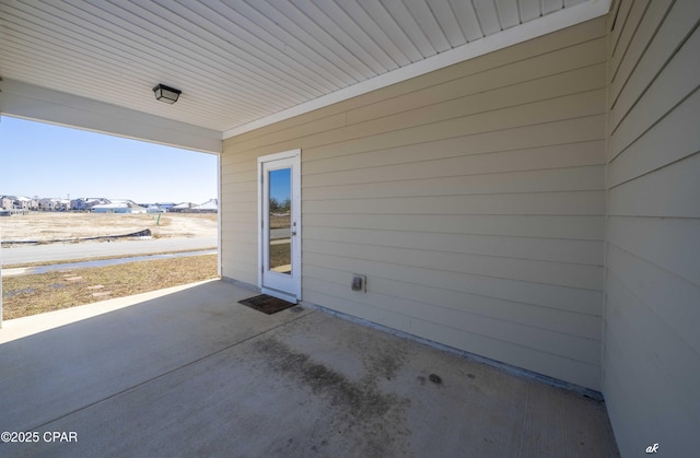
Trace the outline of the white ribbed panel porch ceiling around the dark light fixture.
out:
M 24 93 L 38 86 L 226 138 L 605 14 L 609 3 L 0 0 L 0 77 Z M 156 102 L 158 83 L 182 90 L 180 101 Z

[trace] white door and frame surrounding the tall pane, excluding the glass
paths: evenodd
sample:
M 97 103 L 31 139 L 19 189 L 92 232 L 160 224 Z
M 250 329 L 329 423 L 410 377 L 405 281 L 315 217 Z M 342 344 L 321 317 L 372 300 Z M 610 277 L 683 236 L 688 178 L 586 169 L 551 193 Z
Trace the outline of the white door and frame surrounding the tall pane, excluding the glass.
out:
M 302 298 L 302 209 L 301 209 L 301 153 L 302 150 L 290 150 L 281 153 L 268 154 L 258 157 L 258 287 L 265 294 L 279 297 L 284 301 L 298 303 Z M 269 260 L 267 259 L 267 247 L 269 246 L 269 232 L 267 224 L 269 222 L 269 212 L 267 209 L 268 190 L 265 186 L 265 167 L 272 165 L 276 161 L 283 161 L 287 166 L 291 166 L 291 185 L 292 185 L 292 211 L 291 222 L 291 274 L 282 274 L 269 271 Z M 283 275 L 289 275 L 283 279 Z M 277 277 L 283 282 L 283 286 L 275 284 L 272 287 L 269 282 L 270 278 Z

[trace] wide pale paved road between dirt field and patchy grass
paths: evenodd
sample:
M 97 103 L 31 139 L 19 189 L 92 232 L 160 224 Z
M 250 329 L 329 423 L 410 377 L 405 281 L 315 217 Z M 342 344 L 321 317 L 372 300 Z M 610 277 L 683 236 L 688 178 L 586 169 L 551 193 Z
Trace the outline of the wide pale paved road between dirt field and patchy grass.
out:
M 81 244 L 33 245 L 2 248 L 2 266 L 40 261 L 68 261 L 120 255 L 215 248 L 217 237 L 158 238 L 129 242 L 84 242 Z

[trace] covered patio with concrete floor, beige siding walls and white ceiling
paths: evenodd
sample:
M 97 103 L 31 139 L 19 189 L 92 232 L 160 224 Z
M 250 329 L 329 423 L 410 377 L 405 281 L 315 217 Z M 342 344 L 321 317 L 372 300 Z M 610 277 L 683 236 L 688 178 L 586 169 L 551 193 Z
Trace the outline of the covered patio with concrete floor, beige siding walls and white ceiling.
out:
M 232 282 L 7 324 L 0 431 L 79 442 L 0 454 L 697 455 L 699 25 L 696 0 L 0 0 L 0 115 L 217 154 Z

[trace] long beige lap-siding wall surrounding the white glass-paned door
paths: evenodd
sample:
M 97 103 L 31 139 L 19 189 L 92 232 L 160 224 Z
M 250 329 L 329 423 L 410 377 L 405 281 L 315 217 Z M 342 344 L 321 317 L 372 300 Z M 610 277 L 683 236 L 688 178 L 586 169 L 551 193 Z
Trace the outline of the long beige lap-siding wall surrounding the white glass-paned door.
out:
M 257 283 L 256 160 L 301 148 L 305 302 L 599 389 L 606 44 L 591 21 L 225 140 L 223 275 Z

